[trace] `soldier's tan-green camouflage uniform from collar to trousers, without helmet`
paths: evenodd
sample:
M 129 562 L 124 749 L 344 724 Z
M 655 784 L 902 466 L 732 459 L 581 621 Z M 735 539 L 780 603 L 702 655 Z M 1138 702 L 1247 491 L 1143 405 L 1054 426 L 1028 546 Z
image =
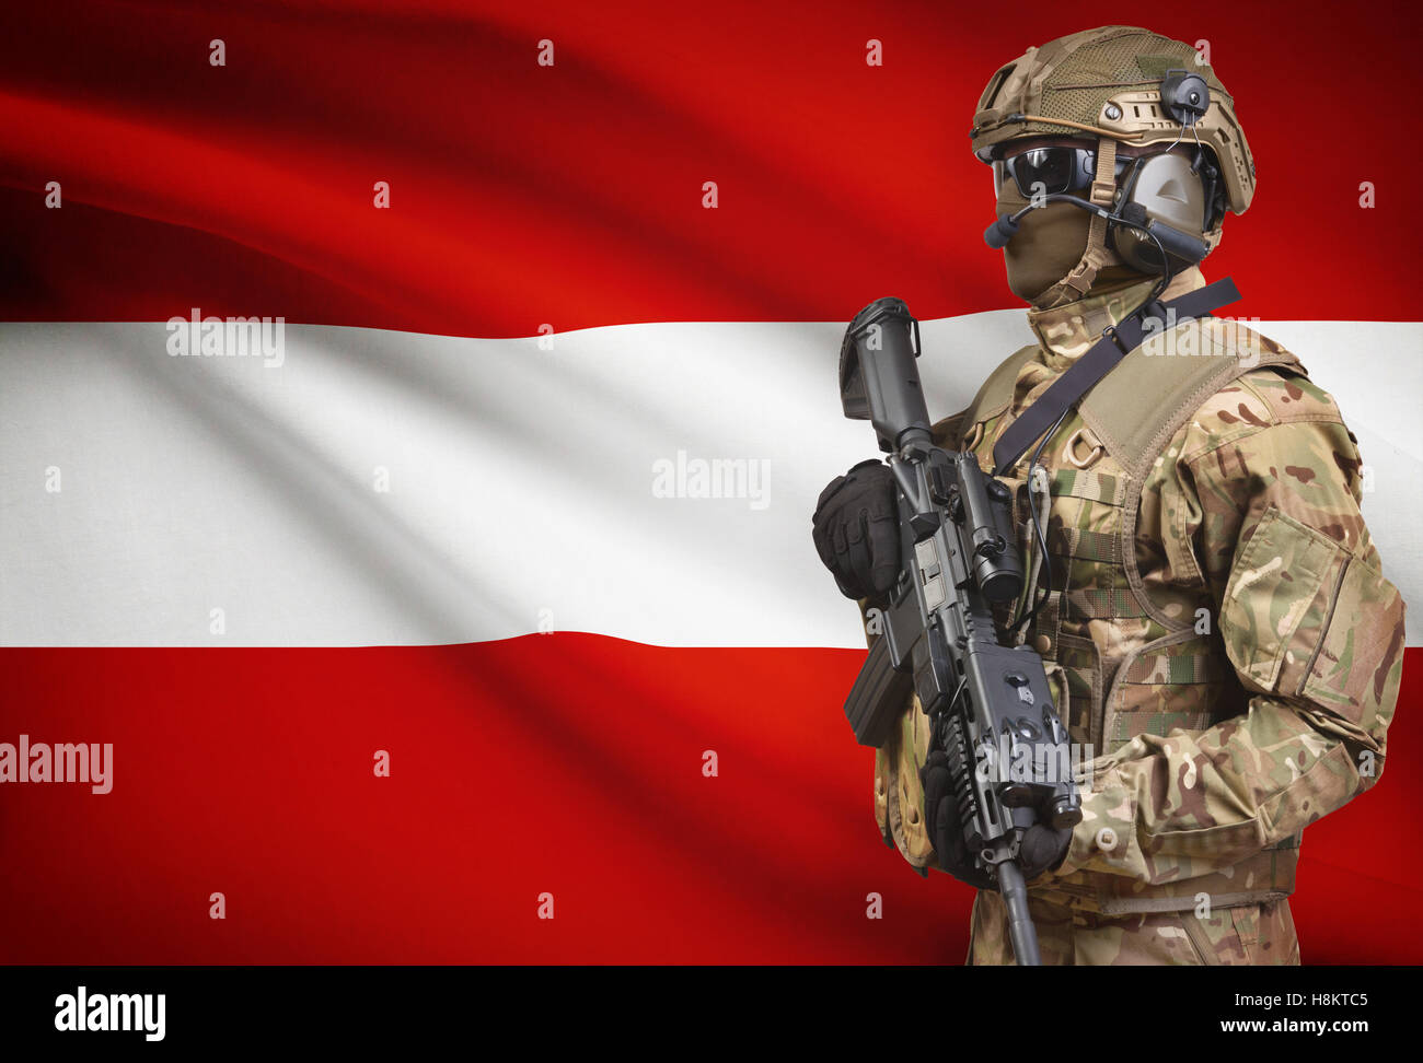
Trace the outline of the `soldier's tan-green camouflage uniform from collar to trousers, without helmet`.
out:
M 1165 297 L 1202 283 L 1188 270 Z M 1029 311 L 1040 342 L 996 374 L 1002 408 L 985 385 L 936 426 L 941 445 L 990 468 L 1013 418 L 1150 284 L 1099 284 Z M 1161 411 L 1170 433 L 1134 466 L 1093 399 L 1110 404 L 1110 387 L 1154 394 L 1161 378 L 1151 360 L 1123 362 L 1039 459 L 1057 590 L 1026 638 L 1072 740 L 1096 753 L 1067 857 L 1030 890 L 1046 964 L 1298 964 L 1286 898 L 1301 833 L 1383 770 L 1403 603 L 1359 513 L 1356 441 L 1269 340 L 1210 318 L 1173 337 L 1195 357 L 1234 360 L 1232 378 L 1192 396 L 1178 425 Z M 1249 342 L 1264 357 L 1245 369 Z M 1005 479 L 1033 559 L 1026 475 L 1025 456 Z M 926 753 L 928 721 L 906 706 L 877 750 L 875 811 L 921 868 L 935 865 L 918 777 Z M 975 902 L 969 962 L 1013 962 L 993 892 Z

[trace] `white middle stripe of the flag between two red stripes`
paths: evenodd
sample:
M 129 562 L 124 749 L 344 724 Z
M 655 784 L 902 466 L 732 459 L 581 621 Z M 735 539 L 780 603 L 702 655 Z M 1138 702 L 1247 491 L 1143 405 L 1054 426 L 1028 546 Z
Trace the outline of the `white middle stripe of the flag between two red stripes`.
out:
M 287 325 L 270 368 L 172 357 L 161 323 L 3 324 L 0 642 L 862 647 L 810 540 L 820 489 L 875 455 L 840 416 L 842 331 L 618 325 L 545 351 Z M 1423 325 L 1261 331 L 1339 399 L 1417 601 Z M 1029 338 L 1022 311 L 925 323 L 931 412 Z M 739 496 L 694 497 L 717 473 Z

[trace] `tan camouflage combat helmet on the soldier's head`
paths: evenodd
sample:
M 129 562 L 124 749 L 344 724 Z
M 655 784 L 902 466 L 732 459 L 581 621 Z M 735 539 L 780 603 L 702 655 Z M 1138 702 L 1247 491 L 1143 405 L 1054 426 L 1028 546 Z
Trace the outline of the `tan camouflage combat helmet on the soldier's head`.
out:
M 1255 162 L 1235 118 L 1235 101 L 1190 44 L 1134 26 L 1103 26 L 1059 37 L 999 70 L 983 90 L 973 152 L 985 162 L 1005 141 L 1022 136 L 1111 138 L 1134 146 L 1192 141 L 1161 108 L 1161 80 L 1170 70 L 1205 78 L 1211 105 L 1195 124 L 1215 153 L 1225 206 L 1245 213 L 1255 195 Z

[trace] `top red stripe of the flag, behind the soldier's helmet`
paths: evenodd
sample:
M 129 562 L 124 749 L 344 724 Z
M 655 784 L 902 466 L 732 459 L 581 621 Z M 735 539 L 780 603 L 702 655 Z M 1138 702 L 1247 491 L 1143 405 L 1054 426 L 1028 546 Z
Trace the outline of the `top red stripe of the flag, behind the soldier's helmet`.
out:
M 1210 43 L 1259 162 L 1257 203 L 1210 270 L 1235 276 L 1254 317 L 1414 320 L 1389 104 L 1412 94 L 1414 16 L 1292 4 L 1282 40 L 1281 10 L 1153 18 Z M 1000 63 L 1081 28 L 1042 1 L 1005 20 L 848 0 L 814 17 L 57 0 L 10 20 L 0 314 L 201 306 L 464 335 L 845 320 L 885 291 L 929 318 L 1012 306 L 965 134 Z

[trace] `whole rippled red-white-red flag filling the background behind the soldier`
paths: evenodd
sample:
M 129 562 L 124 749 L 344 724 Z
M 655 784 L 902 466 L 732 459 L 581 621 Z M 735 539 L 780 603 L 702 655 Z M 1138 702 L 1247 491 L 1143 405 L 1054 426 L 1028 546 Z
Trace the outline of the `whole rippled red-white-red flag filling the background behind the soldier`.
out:
M 0 789 L 0 961 L 962 959 L 972 891 L 878 841 L 810 512 L 872 455 L 861 306 L 925 320 L 936 414 L 1027 341 L 965 134 L 1087 23 L 507 9 L 9 13 L 0 742 L 110 742 L 114 787 Z M 1417 603 L 1412 17 L 1153 28 L 1259 166 L 1207 277 L 1339 399 Z M 283 318 L 280 364 L 172 357 L 194 313 Z M 746 489 L 697 497 L 713 462 Z M 1306 834 L 1306 962 L 1423 959 L 1417 654 L 1386 777 Z

